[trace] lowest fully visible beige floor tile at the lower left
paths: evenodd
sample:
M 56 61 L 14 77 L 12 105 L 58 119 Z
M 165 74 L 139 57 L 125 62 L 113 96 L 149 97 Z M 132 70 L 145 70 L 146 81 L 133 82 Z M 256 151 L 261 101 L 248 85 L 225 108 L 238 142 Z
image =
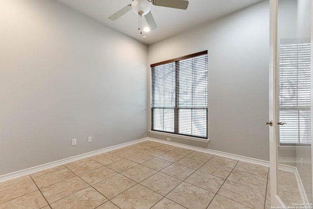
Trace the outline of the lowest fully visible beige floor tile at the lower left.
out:
M 89 186 L 86 182 L 81 180 L 79 177 L 73 177 L 65 181 L 56 183 L 54 185 L 47 186 L 40 189 L 45 196 L 45 199 L 49 203 L 53 203 L 60 200 L 70 194 L 75 193 L 83 188 Z

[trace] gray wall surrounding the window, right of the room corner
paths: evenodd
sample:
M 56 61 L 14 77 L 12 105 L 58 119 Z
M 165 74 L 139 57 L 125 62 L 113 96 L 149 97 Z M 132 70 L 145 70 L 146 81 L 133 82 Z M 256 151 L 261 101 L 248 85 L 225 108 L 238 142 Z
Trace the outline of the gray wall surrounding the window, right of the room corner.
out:
M 210 149 L 269 160 L 268 23 L 263 1 L 148 48 L 149 65 L 208 50 Z

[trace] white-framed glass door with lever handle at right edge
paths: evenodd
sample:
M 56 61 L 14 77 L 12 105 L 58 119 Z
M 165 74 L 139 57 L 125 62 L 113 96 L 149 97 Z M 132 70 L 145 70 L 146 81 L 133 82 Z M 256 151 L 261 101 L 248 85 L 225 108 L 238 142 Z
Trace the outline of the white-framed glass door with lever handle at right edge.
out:
M 313 198 L 311 186 L 313 6 L 312 0 L 269 2 L 269 120 L 266 124 L 269 125 L 270 201 L 271 206 L 292 206 L 292 203 L 310 203 Z M 284 153 L 284 150 L 288 152 Z M 306 159 L 305 163 L 303 159 Z M 284 185 L 286 182 L 282 181 L 280 175 L 288 174 L 288 169 L 292 174 L 293 168 L 297 185 L 292 187 L 291 191 L 299 189 L 296 193 L 300 195 L 288 202 L 284 195 L 289 191 L 284 189 L 291 186 L 286 187 Z

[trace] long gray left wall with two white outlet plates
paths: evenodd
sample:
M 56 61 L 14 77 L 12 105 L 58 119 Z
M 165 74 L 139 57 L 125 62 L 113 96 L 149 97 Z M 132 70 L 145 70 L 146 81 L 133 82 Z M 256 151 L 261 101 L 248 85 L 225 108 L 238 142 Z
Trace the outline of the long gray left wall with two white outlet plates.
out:
M 146 67 L 146 45 L 58 2 L 0 0 L 0 175 L 146 137 Z

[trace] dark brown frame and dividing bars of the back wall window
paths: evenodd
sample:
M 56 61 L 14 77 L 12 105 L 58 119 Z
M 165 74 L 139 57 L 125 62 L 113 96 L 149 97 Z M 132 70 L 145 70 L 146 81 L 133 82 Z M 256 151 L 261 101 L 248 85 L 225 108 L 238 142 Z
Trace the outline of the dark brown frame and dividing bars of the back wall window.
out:
M 204 51 L 201 51 L 201 52 L 198 52 L 198 53 L 194 53 L 194 54 L 189 54 L 189 55 L 186 55 L 186 56 L 182 56 L 182 57 L 178 57 L 178 58 L 174 58 L 174 59 L 170 59 L 170 60 L 166 60 L 166 61 L 162 61 L 162 62 L 158 62 L 158 63 L 155 63 L 155 64 L 151 64 L 150 67 L 151 67 L 151 76 L 150 76 L 150 79 L 151 79 L 151 96 L 150 96 L 150 110 L 151 110 L 151 113 L 150 113 L 150 116 L 151 116 L 151 131 L 153 132 L 159 132 L 160 134 L 161 133 L 167 133 L 167 134 L 171 134 L 171 135 L 178 135 L 178 136 L 186 136 L 186 137 L 189 137 L 189 138 L 199 138 L 199 139 L 204 139 L 204 140 L 207 140 L 208 139 L 208 102 L 207 102 L 207 97 L 208 97 L 208 90 L 206 89 L 206 107 L 205 108 L 201 108 L 201 109 L 206 109 L 206 136 L 205 137 L 202 137 L 202 136 L 197 136 L 197 135 L 189 135 L 189 134 L 182 134 L 182 133 L 179 133 L 179 88 L 178 88 L 178 77 L 179 77 L 179 61 L 181 60 L 184 60 L 184 59 L 188 59 L 188 58 L 193 58 L 193 57 L 197 57 L 197 56 L 200 56 L 200 55 L 206 55 L 205 59 L 206 59 L 206 68 L 208 68 L 208 63 L 207 63 L 207 55 L 208 55 L 208 50 L 204 50 Z M 153 77 L 153 70 L 154 70 L 154 67 L 156 66 L 160 66 L 160 65 L 164 65 L 164 64 L 169 64 L 169 63 L 174 63 L 175 64 L 175 106 L 174 106 L 174 132 L 168 132 L 168 131 L 160 131 L 160 130 L 155 130 L 153 129 L 154 128 L 154 114 L 153 114 L 153 111 L 154 108 L 153 107 L 153 91 L 154 91 L 154 86 L 152 85 L 152 77 Z M 207 69 L 208 70 L 208 69 Z M 206 77 L 206 81 L 208 81 L 208 75 Z M 206 88 L 208 88 L 208 85 L 206 84 Z M 160 108 L 159 108 L 160 109 Z M 165 107 L 163 107 L 163 109 L 166 109 Z M 173 108 L 171 108 L 173 109 Z M 191 108 L 191 111 L 193 109 L 199 109 L 199 108 Z M 164 121 L 164 118 L 163 118 L 163 121 Z

